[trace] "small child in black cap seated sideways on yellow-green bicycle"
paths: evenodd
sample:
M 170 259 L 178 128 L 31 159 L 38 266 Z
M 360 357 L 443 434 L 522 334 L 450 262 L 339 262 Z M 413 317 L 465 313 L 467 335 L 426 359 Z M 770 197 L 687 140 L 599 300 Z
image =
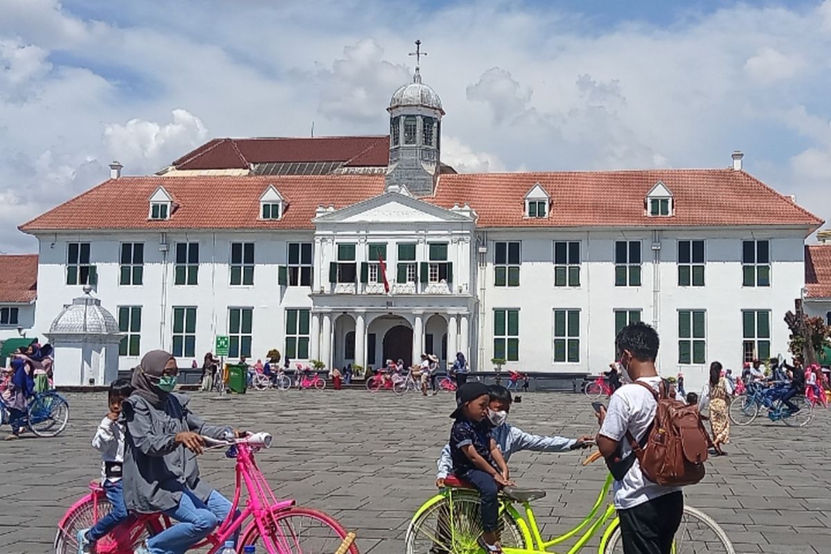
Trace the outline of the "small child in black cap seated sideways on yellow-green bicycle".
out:
M 499 446 L 490 436 L 487 423 L 489 400 L 488 387 L 483 383 L 465 383 L 456 391 L 456 409 L 450 414 L 455 419 L 450 429 L 450 458 L 455 476 L 465 479 L 479 490 L 484 529 L 479 546 L 485 552 L 501 553 L 497 537 L 499 504 L 496 495 L 499 485 L 513 483 L 509 480 L 508 465 L 499 452 Z

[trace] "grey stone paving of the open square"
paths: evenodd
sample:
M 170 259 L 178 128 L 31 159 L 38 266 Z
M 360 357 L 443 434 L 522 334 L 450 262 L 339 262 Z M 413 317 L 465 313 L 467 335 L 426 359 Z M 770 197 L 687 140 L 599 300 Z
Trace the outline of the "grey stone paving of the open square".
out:
M 275 436 L 258 461 L 278 498 L 330 512 L 358 533 L 361 552 L 403 552 L 412 513 L 435 493 L 435 458 L 450 430 L 452 395 L 293 390 L 225 401 L 209 393 L 192 396 L 194 409 L 209 421 Z M 90 441 L 106 413 L 106 394 L 66 397 L 71 421 L 60 437 L 0 442 L 0 554 L 50 552 L 58 519 L 98 474 Z M 510 421 L 538 434 L 597 430 L 588 400 L 564 393 L 524 395 Z M 829 412 L 820 410 L 805 429 L 766 419 L 734 427 L 729 455 L 711 458 L 705 481 L 686 489 L 687 502 L 720 522 L 740 554 L 829 552 L 829 421 Z M 606 473 L 602 463 L 583 468 L 582 455 L 519 453 L 511 459 L 520 484 L 548 491 L 534 503 L 543 532 L 559 534 L 580 522 L 596 498 Z M 233 492 L 232 461 L 206 453 L 200 464 L 203 478 Z

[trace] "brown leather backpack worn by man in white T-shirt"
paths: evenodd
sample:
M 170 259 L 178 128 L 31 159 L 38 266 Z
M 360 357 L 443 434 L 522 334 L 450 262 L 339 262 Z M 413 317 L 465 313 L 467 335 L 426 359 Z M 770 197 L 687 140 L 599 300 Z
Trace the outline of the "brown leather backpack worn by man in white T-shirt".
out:
M 666 487 L 698 483 L 704 478 L 704 463 L 710 445 L 710 436 L 701 422 L 698 407 L 668 398 L 663 380 L 660 395 L 642 381 L 635 381 L 635 385 L 647 388 L 658 403 L 643 448 L 632 433 L 627 431 L 626 434 L 643 475 Z

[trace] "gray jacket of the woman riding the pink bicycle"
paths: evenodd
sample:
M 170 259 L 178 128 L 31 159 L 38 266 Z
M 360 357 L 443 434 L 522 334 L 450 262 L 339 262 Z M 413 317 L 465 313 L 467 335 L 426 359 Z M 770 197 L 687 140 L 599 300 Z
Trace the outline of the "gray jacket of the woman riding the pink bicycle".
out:
M 196 454 L 176 444 L 175 436 L 194 431 L 214 439 L 233 433 L 229 427 L 206 424 L 188 409 L 187 395 L 168 395 L 165 410 L 139 395 L 125 400 L 121 417 L 127 433 L 124 449 L 124 500 L 140 513 L 164 512 L 179 505 L 188 488 L 203 502 L 214 490 L 199 478 Z

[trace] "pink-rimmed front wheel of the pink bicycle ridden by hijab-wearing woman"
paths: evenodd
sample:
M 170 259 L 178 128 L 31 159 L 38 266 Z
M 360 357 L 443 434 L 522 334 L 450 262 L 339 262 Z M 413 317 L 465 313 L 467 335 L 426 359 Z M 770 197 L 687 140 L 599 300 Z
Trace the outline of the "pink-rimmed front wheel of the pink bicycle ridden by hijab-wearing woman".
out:
M 274 510 L 266 522 L 266 534 L 254 526 L 238 547 L 256 547 L 257 552 L 285 554 L 329 554 L 336 552 L 347 531 L 332 516 L 307 507 Z M 347 554 L 358 554 L 353 542 Z

